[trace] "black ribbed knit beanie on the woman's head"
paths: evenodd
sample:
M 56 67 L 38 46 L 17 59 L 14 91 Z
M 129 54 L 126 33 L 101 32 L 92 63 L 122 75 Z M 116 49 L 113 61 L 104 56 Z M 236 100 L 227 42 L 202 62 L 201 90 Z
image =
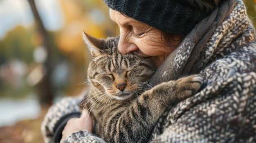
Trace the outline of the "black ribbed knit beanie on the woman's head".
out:
M 103 0 L 117 10 L 156 29 L 187 35 L 221 0 Z

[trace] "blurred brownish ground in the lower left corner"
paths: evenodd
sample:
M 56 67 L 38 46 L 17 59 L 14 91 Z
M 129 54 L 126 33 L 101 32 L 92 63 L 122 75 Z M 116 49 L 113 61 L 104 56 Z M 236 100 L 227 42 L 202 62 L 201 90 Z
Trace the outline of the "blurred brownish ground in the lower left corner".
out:
M 24 120 L 13 126 L 0 128 L 0 143 L 43 143 L 40 125 L 48 107 L 42 108 L 37 119 Z

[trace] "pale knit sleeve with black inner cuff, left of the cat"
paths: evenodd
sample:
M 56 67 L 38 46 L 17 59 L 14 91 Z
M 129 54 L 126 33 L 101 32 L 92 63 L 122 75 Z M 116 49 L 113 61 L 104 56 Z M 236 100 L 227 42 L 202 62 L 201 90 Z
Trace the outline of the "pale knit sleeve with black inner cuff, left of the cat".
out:
M 60 141 L 62 130 L 67 121 L 73 117 L 81 116 L 78 104 L 86 94 L 88 94 L 87 88 L 83 90 L 81 95 L 64 97 L 48 109 L 41 124 L 41 132 L 45 143 Z

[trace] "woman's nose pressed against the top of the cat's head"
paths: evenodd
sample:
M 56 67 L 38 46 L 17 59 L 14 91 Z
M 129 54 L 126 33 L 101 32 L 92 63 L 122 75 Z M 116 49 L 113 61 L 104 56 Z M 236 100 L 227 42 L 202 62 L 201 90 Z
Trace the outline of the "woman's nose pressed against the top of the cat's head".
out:
M 137 45 L 130 43 L 126 40 L 122 40 L 122 38 L 120 38 L 117 49 L 121 54 L 127 54 L 132 51 L 137 51 L 139 48 Z

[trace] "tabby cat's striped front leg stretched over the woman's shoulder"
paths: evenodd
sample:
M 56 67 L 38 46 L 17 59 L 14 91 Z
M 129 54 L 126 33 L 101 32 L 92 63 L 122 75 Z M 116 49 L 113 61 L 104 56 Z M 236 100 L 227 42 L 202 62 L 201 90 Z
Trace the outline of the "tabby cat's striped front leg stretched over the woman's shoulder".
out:
M 147 142 L 159 117 L 166 107 L 191 97 L 200 89 L 202 78 L 191 75 L 168 81 L 147 90 L 115 121 L 118 132 L 115 142 Z

